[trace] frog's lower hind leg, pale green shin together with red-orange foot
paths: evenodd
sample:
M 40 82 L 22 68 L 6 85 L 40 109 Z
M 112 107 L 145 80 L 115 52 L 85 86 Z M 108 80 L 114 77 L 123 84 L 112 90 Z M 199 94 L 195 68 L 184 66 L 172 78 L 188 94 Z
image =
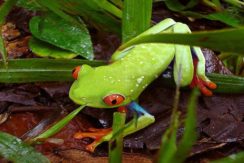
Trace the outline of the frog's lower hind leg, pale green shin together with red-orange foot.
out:
M 202 94 L 212 96 L 211 89 L 216 89 L 216 84 L 210 81 L 205 75 L 205 58 L 199 47 L 193 47 L 194 75 L 190 87 L 198 87 Z

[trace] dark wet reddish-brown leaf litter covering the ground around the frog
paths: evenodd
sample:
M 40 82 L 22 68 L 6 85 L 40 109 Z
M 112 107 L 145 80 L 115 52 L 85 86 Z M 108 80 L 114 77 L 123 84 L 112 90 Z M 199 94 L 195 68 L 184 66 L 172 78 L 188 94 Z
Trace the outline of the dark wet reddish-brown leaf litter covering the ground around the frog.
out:
M 37 57 L 28 49 L 31 36 L 28 30 L 29 19 L 37 13 L 14 8 L 3 27 L 9 58 Z M 193 30 L 220 29 L 225 26 L 207 20 L 190 21 L 164 6 L 155 6 L 153 21 L 158 22 L 171 17 L 185 22 Z M 95 58 L 108 60 L 120 45 L 118 36 L 89 29 L 95 51 Z M 207 72 L 231 74 L 216 53 L 203 49 Z M 171 70 L 167 70 L 171 72 Z M 162 134 L 169 125 L 175 90 L 162 82 L 163 75 L 155 80 L 140 96 L 139 103 L 156 117 L 149 127 L 124 139 L 124 162 L 152 162 L 160 147 Z M 8 132 L 23 140 L 39 134 L 67 115 L 78 106 L 68 98 L 72 83 L 31 83 L 0 84 L 0 131 Z M 182 90 L 179 109 L 184 116 L 189 90 Z M 207 162 L 244 149 L 244 94 L 214 94 L 201 96 L 197 106 L 198 141 L 194 145 L 187 162 Z M 35 148 L 45 154 L 52 162 L 107 162 L 107 144 L 99 146 L 95 153 L 85 151 L 90 139 L 75 140 L 77 131 L 90 127 L 108 128 L 112 124 L 112 114 L 116 109 L 85 108 L 52 140 Z M 130 116 L 130 114 L 129 114 Z M 184 128 L 179 128 L 178 137 Z M 0 160 L 1 162 L 1 160 Z

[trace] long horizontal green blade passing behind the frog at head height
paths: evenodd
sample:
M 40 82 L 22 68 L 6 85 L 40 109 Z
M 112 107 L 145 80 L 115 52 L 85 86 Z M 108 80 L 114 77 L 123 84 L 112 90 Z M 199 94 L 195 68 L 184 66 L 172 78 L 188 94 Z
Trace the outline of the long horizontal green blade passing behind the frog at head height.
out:
M 0 63 L 0 83 L 26 83 L 37 81 L 73 81 L 71 72 L 82 64 L 102 66 L 103 61 L 78 59 L 14 59 L 9 60 L 8 69 Z M 217 84 L 216 93 L 242 93 L 244 78 L 223 74 L 207 74 Z M 163 78 L 162 83 L 174 86 L 173 78 Z

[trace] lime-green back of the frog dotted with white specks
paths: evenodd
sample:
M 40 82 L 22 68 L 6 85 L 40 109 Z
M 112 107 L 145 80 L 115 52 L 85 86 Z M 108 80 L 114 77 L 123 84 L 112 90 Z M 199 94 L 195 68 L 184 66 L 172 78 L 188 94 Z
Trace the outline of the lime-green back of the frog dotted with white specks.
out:
M 121 91 L 136 99 L 168 67 L 174 53 L 173 45 L 141 44 L 130 49 L 123 58 L 98 71 L 106 73 L 108 82 L 116 82 Z

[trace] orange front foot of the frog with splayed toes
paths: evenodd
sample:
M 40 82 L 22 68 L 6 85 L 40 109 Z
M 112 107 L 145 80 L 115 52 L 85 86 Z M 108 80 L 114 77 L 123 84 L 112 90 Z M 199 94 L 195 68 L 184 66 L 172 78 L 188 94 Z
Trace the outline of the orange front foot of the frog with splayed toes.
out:
M 90 152 L 94 152 L 95 148 L 100 144 L 103 137 L 108 135 L 112 132 L 112 128 L 107 129 L 96 129 L 96 128 L 89 128 L 88 132 L 77 132 L 74 135 L 75 139 L 83 139 L 83 138 L 92 138 L 94 141 L 86 146 L 86 150 Z

